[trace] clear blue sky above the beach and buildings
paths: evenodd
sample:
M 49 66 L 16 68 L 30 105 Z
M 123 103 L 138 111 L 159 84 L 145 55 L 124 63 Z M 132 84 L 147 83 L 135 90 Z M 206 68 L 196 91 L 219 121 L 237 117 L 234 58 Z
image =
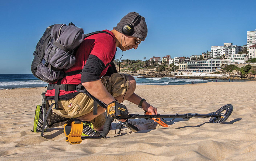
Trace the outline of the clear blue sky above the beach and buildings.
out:
M 46 27 L 73 22 L 85 33 L 112 30 L 135 11 L 144 16 L 148 36 L 122 59 L 201 54 L 212 45 L 243 46 L 256 29 L 256 1 L 3 1 L 0 4 L 0 74 L 31 73 L 36 44 Z M 134 3 L 133 3 L 134 2 Z M 118 49 L 116 58 L 122 52 Z

